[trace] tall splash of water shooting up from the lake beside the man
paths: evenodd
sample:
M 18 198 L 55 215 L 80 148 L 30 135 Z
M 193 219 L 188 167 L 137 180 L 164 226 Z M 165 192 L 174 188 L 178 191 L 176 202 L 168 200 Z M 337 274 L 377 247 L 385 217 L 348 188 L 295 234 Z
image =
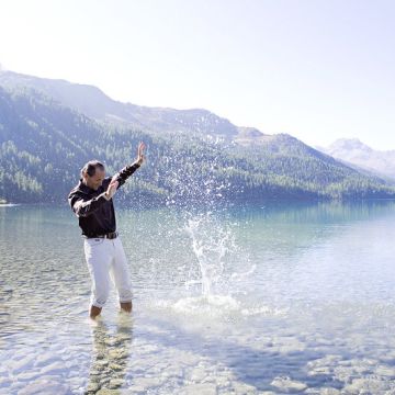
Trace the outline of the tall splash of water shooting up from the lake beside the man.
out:
M 224 167 L 221 160 L 227 145 L 221 139 L 200 138 L 190 146 L 194 154 L 194 147 L 201 147 L 198 150 L 201 154 L 192 156 L 192 161 L 188 151 L 176 150 L 171 157 L 165 158 L 168 176 L 171 176 L 166 177 L 170 180 L 166 205 L 180 215 L 180 238 L 188 235 L 190 244 L 184 247 L 190 250 L 185 253 L 193 252 L 190 262 L 187 261 L 180 271 L 185 275 L 188 295 L 179 298 L 173 308 L 177 312 L 206 314 L 241 311 L 240 302 L 234 297 L 235 291 L 255 271 L 255 267 L 248 268 L 247 256 L 236 244 L 228 217 L 227 196 L 235 192 L 236 185 L 232 184 L 229 176 L 233 165 Z M 235 267 L 241 273 L 234 273 Z M 196 293 L 193 292 L 196 290 Z

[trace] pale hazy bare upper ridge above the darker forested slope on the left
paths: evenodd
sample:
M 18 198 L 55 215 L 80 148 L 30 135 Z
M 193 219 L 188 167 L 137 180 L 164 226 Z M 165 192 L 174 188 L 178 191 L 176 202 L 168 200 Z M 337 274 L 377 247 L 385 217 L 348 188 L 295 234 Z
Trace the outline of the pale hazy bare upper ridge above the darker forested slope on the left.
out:
M 173 110 L 121 103 L 109 98 L 99 88 L 70 83 L 60 79 L 0 71 L 0 86 L 10 90 L 25 90 L 26 88 L 38 90 L 93 120 L 124 123 L 134 128 L 161 135 L 188 133 L 232 139 L 240 133 L 240 129 L 228 120 L 207 110 Z M 260 134 L 259 131 L 255 131 Z

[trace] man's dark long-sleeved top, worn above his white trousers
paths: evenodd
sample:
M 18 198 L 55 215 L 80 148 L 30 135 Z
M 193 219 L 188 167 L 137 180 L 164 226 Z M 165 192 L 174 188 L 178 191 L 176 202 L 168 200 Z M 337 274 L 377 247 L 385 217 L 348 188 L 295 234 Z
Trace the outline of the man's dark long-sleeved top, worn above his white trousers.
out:
M 139 165 L 133 163 L 124 167 L 117 174 L 119 188 L 139 168 Z M 68 202 L 79 219 L 79 226 L 82 235 L 94 237 L 105 235 L 116 230 L 115 211 L 112 199 L 104 196 L 112 177 L 103 180 L 103 183 L 97 191 L 87 187 L 82 179 L 70 191 Z

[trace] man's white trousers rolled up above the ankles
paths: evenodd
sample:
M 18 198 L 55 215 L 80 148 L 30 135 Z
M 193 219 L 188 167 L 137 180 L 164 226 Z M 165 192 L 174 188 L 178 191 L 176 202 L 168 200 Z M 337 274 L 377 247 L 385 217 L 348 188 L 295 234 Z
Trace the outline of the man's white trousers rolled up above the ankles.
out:
M 84 239 L 83 249 L 92 280 L 92 306 L 104 306 L 110 294 L 110 279 L 115 284 L 120 302 L 132 302 L 131 274 L 120 237 Z

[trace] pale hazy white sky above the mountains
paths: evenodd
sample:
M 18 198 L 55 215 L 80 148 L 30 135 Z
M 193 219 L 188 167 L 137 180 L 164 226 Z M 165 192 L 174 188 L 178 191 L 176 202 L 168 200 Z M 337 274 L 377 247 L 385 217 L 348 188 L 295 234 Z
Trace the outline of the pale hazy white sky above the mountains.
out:
M 0 0 L 9 70 L 395 149 L 393 0 Z

